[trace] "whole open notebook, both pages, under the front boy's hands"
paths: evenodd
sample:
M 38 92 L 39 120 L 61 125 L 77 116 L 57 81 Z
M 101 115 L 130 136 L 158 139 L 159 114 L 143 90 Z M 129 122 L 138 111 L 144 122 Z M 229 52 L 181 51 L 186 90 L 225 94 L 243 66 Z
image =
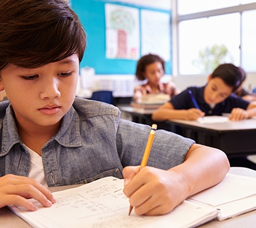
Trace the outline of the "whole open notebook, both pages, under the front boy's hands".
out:
M 211 189 L 198 193 L 164 216 L 128 216 L 123 180 L 108 177 L 53 193 L 51 208 L 29 212 L 9 206 L 33 227 L 196 227 L 211 219 L 226 219 L 256 208 L 256 178 L 227 174 Z M 184 219 L 184 215 L 186 218 Z

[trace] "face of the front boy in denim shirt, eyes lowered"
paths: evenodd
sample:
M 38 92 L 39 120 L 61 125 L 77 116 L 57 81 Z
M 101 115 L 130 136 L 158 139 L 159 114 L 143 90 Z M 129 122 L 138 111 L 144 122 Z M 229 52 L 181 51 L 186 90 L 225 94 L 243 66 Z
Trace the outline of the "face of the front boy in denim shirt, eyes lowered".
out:
M 10 64 L 1 71 L 18 126 L 24 129 L 59 125 L 75 98 L 79 60 L 76 54 L 33 69 Z

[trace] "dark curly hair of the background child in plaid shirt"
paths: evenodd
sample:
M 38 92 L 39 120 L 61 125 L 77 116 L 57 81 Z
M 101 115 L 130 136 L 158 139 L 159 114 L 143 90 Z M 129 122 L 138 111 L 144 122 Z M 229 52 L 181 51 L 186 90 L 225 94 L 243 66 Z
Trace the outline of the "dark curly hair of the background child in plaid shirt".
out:
M 154 62 L 160 62 L 161 66 L 163 67 L 163 72 L 165 72 L 165 61 L 160 56 L 157 54 L 146 54 L 145 56 L 142 56 L 142 58 L 140 58 L 140 60 L 137 62 L 135 75 L 138 80 L 143 81 L 146 79 L 144 77 L 146 66 L 149 64 L 154 64 Z

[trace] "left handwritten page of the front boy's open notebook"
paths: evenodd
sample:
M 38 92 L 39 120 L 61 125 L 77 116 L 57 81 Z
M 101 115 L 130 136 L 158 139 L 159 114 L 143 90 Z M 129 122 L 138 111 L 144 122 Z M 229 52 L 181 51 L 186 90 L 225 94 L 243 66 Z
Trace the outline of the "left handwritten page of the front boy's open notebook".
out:
M 165 216 L 128 216 L 129 200 L 123 194 L 123 180 L 102 178 L 81 187 L 53 193 L 51 208 L 39 206 L 28 212 L 11 210 L 33 227 L 196 227 L 216 218 L 215 208 L 186 200 Z M 184 218 L 185 216 L 185 218 Z

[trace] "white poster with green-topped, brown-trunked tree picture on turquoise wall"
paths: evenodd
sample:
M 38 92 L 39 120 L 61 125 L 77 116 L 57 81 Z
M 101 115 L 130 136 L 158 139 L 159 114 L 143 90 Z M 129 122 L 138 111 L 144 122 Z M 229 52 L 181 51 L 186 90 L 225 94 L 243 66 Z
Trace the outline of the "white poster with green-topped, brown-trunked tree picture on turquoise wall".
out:
M 106 3 L 105 16 L 106 58 L 138 60 L 139 9 Z

